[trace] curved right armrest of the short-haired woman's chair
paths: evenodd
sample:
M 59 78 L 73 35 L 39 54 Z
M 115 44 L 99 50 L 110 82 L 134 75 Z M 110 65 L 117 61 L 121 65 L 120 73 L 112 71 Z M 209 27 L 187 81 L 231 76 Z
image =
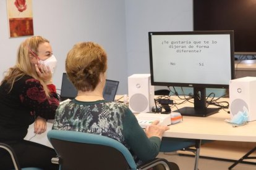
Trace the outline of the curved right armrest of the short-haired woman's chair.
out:
M 168 161 L 163 158 L 155 158 L 154 160 L 148 161 L 147 163 L 143 163 L 137 167 L 139 170 L 146 170 L 149 168 L 153 168 L 158 164 L 162 164 L 166 170 L 171 170 L 168 166 Z

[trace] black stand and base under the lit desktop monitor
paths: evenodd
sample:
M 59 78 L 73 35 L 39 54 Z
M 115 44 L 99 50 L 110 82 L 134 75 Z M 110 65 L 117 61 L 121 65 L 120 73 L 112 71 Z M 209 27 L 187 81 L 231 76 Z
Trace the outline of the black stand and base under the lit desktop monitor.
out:
M 206 106 L 205 88 L 194 87 L 194 107 L 184 107 L 175 112 L 181 113 L 182 116 L 200 116 L 206 117 L 218 113 L 220 108 L 208 108 Z

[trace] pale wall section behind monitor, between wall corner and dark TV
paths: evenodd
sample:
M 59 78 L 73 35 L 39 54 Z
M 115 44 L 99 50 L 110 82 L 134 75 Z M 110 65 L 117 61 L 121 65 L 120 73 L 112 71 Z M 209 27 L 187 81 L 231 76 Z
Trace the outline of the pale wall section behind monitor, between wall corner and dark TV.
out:
M 192 12 L 192 0 L 127 0 L 127 74 L 150 73 L 149 31 L 192 31 Z

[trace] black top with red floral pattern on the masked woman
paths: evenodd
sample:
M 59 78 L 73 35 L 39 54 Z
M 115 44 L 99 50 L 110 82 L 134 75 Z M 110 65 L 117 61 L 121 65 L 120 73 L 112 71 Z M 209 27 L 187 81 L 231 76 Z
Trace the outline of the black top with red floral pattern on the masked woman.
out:
M 40 81 L 23 76 L 15 81 L 12 91 L 2 83 L 0 86 L 0 141 L 22 140 L 36 116 L 54 119 L 59 105 L 56 88 L 48 85 L 51 97 L 46 97 Z

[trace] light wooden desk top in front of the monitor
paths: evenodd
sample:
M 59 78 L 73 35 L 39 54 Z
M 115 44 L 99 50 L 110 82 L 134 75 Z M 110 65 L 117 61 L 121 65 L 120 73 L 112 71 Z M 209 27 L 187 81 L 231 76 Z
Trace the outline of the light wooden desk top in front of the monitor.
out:
M 256 142 L 256 121 L 233 127 L 224 121 L 229 118 L 223 110 L 207 117 L 183 116 L 183 122 L 171 124 L 164 137 Z

